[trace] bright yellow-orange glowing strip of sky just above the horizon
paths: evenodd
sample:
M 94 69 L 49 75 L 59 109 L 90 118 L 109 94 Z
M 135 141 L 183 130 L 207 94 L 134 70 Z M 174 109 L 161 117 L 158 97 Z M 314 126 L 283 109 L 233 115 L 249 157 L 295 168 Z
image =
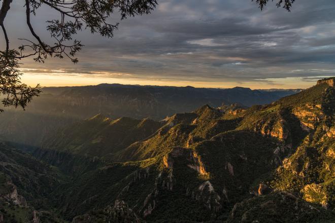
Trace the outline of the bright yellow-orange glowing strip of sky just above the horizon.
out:
M 28 70 L 27 70 L 28 71 Z M 56 73 L 56 75 L 55 75 Z M 148 80 L 140 78 L 117 78 L 102 77 L 95 75 L 64 75 L 60 70 L 53 74 L 40 74 L 26 72 L 22 76 L 22 82 L 30 86 L 40 84 L 43 87 L 62 87 L 62 86 L 87 86 L 98 85 L 102 83 L 109 84 L 124 84 L 124 85 L 157 85 L 157 86 L 192 86 L 197 88 L 233 88 L 236 86 L 246 87 L 251 89 L 296 89 L 296 88 L 309 88 L 316 83 L 314 81 L 303 81 L 302 78 L 279 78 L 267 79 L 259 81 L 177 81 L 177 80 Z

